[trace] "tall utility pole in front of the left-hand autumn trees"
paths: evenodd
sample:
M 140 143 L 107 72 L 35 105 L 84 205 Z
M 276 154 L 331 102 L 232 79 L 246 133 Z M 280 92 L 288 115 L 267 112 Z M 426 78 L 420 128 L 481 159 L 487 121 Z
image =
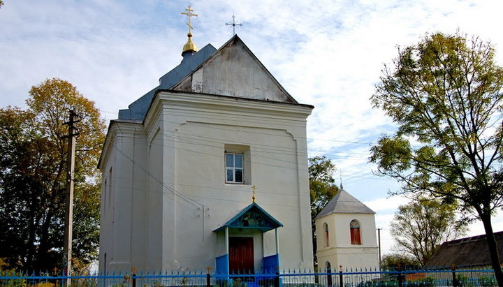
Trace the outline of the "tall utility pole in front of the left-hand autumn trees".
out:
M 71 255 L 72 255 L 72 240 L 73 240 L 73 172 L 75 170 L 75 136 L 78 135 L 77 128 L 74 124 L 80 121 L 75 120 L 78 117 L 74 110 L 70 110 L 70 117 L 68 122 L 64 123 L 68 125 L 68 135 L 64 138 L 68 138 L 68 157 L 66 161 L 66 212 L 65 212 L 65 236 L 63 245 L 63 257 L 64 257 L 64 270 L 65 275 L 68 277 L 66 279 L 66 286 L 71 285 Z

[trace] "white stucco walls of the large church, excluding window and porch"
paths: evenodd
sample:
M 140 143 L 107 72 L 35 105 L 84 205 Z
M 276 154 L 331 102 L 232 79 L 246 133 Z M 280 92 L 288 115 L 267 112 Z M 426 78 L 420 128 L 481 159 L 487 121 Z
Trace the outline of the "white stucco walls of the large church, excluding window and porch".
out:
M 112 124 L 101 170 L 103 182 L 115 182 L 115 196 L 113 207 L 102 196 L 100 270 L 214 268 L 225 240 L 213 230 L 251 204 L 253 185 L 256 203 L 284 225 L 281 267 L 312 269 L 305 152 L 310 111 L 305 105 L 161 92 L 143 124 Z M 245 184 L 225 183 L 226 145 L 249 147 Z M 275 253 L 274 230 L 243 236 L 254 237 L 259 270 L 262 256 Z

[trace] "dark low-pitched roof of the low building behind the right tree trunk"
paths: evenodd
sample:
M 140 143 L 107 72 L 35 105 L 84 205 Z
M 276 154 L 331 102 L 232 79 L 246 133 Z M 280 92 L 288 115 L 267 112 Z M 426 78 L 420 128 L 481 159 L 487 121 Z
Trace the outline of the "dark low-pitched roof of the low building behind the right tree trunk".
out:
M 503 258 L 503 231 L 494 233 L 500 258 Z M 491 265 L 486 235 L 466 237 L 442 243 L 428 260 L 427 268 L 475 267 Z

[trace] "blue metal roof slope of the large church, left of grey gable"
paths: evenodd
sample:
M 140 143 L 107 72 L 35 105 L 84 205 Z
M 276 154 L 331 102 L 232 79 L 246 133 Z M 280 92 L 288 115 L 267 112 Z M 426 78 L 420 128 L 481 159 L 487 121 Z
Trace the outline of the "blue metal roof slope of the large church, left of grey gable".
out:
M 149 91 L 147 94 L 143 95 L 138 100 L 134 101 L 129 105 L 126 110 L 119 110 L 119 119 L 140 119 L 143 120 L 147 114 L 147 110 L 150 106 L 150 102 L 154 97 L 155 92 L 158 89 L 170 89 L 173 85 L 180 82 L 189 73 L 194 71 L 199 65 L 203 64 L 206 59 L 208 59 L 217 49 L 211 44 L 205 45 L 203 49 L 199 50 L 196 54 L 191 57 L 184 57 L 180 65 L 173 68 L 173 70 L 166 73 L 159 79 L 159 86 Z

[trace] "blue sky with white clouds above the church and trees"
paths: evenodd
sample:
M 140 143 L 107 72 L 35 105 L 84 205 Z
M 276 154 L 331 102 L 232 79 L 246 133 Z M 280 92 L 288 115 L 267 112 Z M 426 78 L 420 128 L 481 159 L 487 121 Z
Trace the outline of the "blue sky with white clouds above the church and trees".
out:
M 30 87 L 61 78 L 95 101 L 105 119 L 117 118 L 181 61 L 188 5 L 194 42 L 220 47 L 236 29 L 272 75 L 300 103 L 308 119 L 309 156 L 337 165 L 344 189 L 377 212 L 384 253 L 393 246 L 388 223 L 403 198 L 387 198 L 398 184 L 372 175 L 369 148 L 394 126 L 369 98 L 397 45 L 426 33 L 456 29 L 491 41 L 503 64 L 499 0 L 455 1 L 168 1 L 4 0 L 0 8 L 0 107 L 24 107 Z M 503 230 L 497 216 L 495 230 Z M 481 223 L 469 235 L 483 233 Z

